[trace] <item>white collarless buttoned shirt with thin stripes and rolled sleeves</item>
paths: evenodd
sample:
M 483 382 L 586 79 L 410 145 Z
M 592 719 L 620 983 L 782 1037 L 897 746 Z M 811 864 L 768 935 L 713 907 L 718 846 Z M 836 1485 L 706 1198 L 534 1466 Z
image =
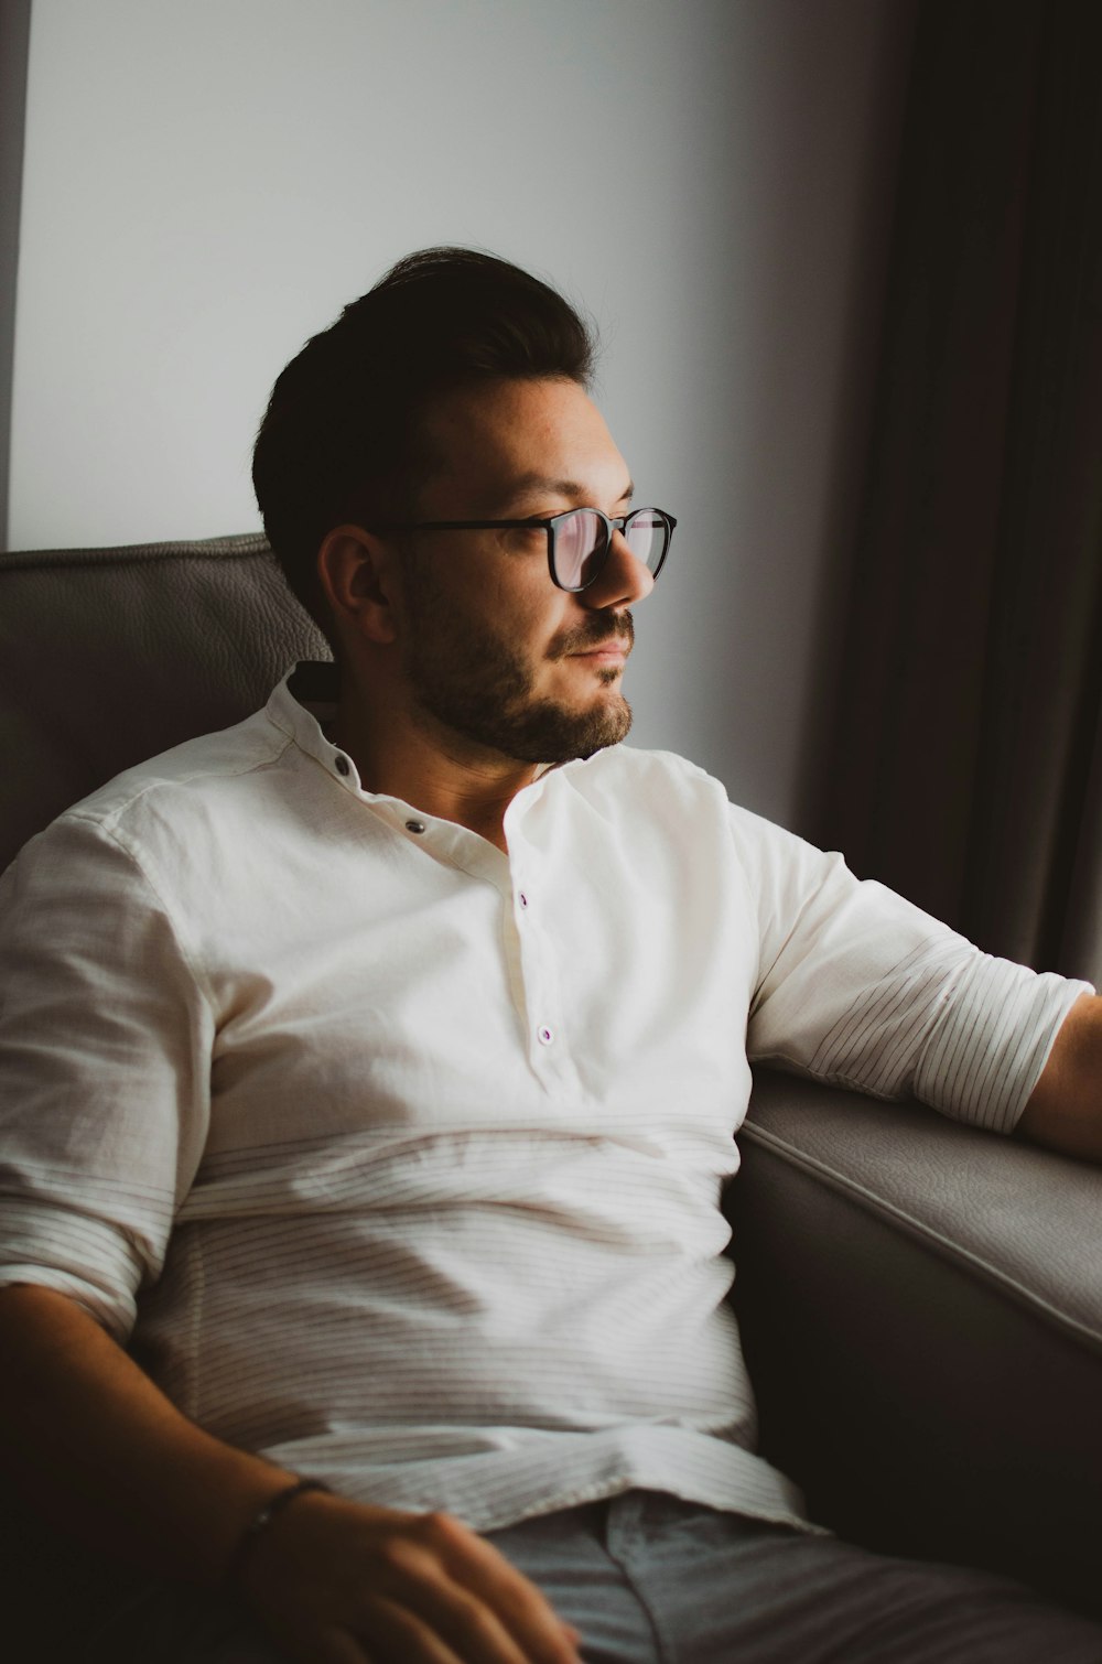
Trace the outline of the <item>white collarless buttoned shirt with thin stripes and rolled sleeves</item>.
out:
M 726 1301 L 747 1050 L 1007 1130 L 1085 985 L 678 757 L 549 770 L 506 855 L 363 790 L 318 714 L 283 684 L 7 874 L 0 1280 L 351 1498 L 799 1521 Z

